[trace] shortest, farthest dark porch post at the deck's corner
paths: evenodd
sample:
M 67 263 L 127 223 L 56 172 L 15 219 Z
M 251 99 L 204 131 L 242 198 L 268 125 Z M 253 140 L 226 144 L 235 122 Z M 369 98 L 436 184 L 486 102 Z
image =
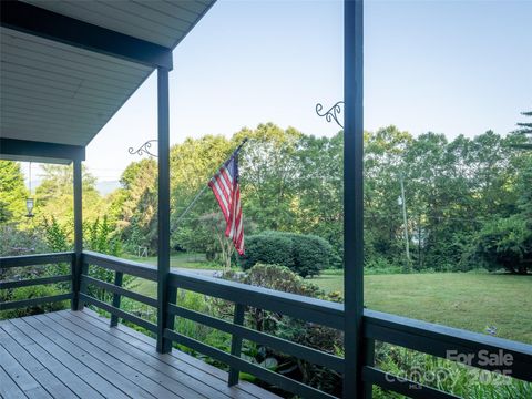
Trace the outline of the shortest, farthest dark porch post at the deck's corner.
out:
M 80 303 L 81 285 L 81 252 L 83 250 L 83 214 L 82 214 L 82 188 L 83 177 L 81 173 L 81 161 L 74 160 L 74 259 L 72 264 L 72 310 L 83 309 Z

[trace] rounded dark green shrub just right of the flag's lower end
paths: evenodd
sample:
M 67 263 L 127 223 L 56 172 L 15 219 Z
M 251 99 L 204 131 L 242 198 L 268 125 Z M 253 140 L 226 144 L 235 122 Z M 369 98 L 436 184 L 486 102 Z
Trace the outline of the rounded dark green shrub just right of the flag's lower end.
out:
M 246 255 L 239 258 L 247 270 L 257 263 L 282 265 L 301 277 L 316 276 L 338 263 L 332 246 L 324 238 L 284 232 L 266 232 L 247 237 Z

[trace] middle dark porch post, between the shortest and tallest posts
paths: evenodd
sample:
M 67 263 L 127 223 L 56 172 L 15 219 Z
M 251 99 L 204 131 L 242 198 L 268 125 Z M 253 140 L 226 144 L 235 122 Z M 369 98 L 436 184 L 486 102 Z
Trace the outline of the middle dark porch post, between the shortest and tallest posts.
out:
M 168 313 L 170 273 L 170 114 L 168 70 L 157 69 L 157 120 L 158 120 L 158 255 L 157 255 L 157 351 L 172 348 L 165 344 L 164 329 Z

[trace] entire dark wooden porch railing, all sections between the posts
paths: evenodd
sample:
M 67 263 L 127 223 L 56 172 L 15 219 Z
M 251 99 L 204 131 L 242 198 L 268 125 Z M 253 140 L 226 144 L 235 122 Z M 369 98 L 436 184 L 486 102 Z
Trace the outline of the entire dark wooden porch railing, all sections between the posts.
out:
M 53 263 L 73 263 L 73 253 L 30 255 L 0 258 L 0 267 L 23 267 L 30 265 L 45 265 Z M 134 293 L 123 287 L 123 276 L 131 275 L 151 282 L 157 280 L 157 270 L 153 266 L 120 259 L 113 256 L 83 252 L 82 273 L 80 284 L 80 301 L 91 304 L 112 316 L 111 326 L 115 326 L 119 318 L 141 326 L 153 334 L 157 334 L 157 326 L 149 320 L 135 316 L 121 308 L 122 296 L 140 301 L 153 308 L 158 307 L 154 298 Z M 93 265 L 114 272 L 114 284 L 110 284 L 89 276 L 88 267 Z M 72 276 L 59 275 L 34 279 L 1 282 L 0 289 L 19 288 L 30 285 L 72 282 Z M 89 294 L 88 286 L 93 285 L 112 294 L 111 304 L 102 301 Z M 75 285 L 74 285 L 75 286 Z M 324 366 L 340 374 L 351 374 L 356 370 L 346 370 L 341 357 L 309 348 L 296 342 L 275 337 L 244 326 L 247 307 L 259 308 L 267 311 L 294 317 L 304 321 L 318 324 L 325 327 L 342 330 L 344 305 L 325 300 L 308 298 L 299 295 L 276 291 L 272 289 L 248 286 L 219 278 L 201 276 L 192 273 L 171 272 L 168 278 L 170 303 L 166 325 L 174 326 L 174 318 L 181 317 L 214 329 L 225 331 L 232 336 L 231 352 L 208 346 L 197 339 L 187 337 L 166 328 L 166 339 L 178 342 L 205 356 L 217 359 L 229 366 L 228 383 L 238 382 L 238 372 L 244 371 L 267 381 L 276 387 L 299 395 L 305 398 L 332 398 L 332 396 L 296 381 L 280 374 L 270 371 L 258 365 L 244 360 L 241 357 L 242 340 L 246 339 L 272 349 L 295 356 L 314 365 Z M 209 315 L 205 315 L 178 304 L 177 290 L 200 293 L 219 298 L 234 304 L 233 323 Z M 55 295 L 43 298 L 8 301 L 0 304 L 0 310 L 33 306 L 50 301 L 72 299 L 73 293 Z M 453 395 L 421 385 L 419 382 L 390 375 L 375 365 L 375 341 L 388 342 L 423 354 L 433 355 L 443 359 L 449 354 L 464 354 L 471 356 L 470 366 L 488 371 L 498 371 L 501 366 L 487 362 L 478 355 L 505 354 L 511 357 L 511 377 L 532 382 L 532 346 L 487 335 L 470 332 L 462 329 L 450 328 L 426 321 L 413 320 L 406 317 L 389 315 L 380 311 L 365 309 L 364 313 L 365 354 L 361 379 L 366 386 L 366 397 L 371 397 L 372 386 L 396 391 L 411 398 L 457 398 Z M 346 345 L 349 345 L 348 342 Z

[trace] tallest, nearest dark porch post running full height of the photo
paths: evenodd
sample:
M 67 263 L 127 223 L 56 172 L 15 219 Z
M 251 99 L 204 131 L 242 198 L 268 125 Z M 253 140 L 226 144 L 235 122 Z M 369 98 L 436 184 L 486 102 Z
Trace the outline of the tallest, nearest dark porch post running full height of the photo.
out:
M 362 398 L 364 361 L 364 3 L 344 3 L 344 398 Z

